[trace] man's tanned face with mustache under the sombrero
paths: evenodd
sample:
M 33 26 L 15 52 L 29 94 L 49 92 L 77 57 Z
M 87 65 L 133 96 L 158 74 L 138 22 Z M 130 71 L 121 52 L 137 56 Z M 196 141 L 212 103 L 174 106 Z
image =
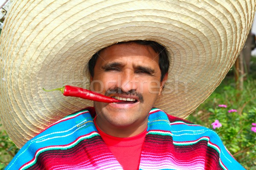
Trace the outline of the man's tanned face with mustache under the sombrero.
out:
M 91 77 L 91 90 L 126 100 L 94 102 L 97 124 L 136 128 L 147 124 L 148 112 L 160 94 L 167 74 L 160 82 L 159 56 L 150 46 L 115 44 L 99 53 Z

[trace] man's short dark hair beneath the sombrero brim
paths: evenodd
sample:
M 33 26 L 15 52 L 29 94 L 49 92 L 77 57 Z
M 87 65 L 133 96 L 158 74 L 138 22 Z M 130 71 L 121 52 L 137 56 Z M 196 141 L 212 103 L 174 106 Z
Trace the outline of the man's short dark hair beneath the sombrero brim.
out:
M 161 71 L 161 81 L 163 81 L 163 77 L 168 72 L 169 65 L 170 65 L 168 52 L 167 52 L 166 48 L 163 47 L 162 45 L 158 44 L 157 42 L 145 41 L 145 40 L 134 40 L 134 41 L 127 41 L 127 42 L 118 42 L 116 44 L 127 44 L 127 43 L 137 43 L 137 44 L 140 44 L 140 45 L 149 45 L 151 48 L 153 48 L 153 50 L 159 55 L 159 63 L 158 64 L 159 64 L 159 68 L 160 68 L 160 71 Z M 96 52 L 88 62 L 89 73 L 90 73 L 90 76 L 92 76 L 92 77 L 94 76 L 93 69 L 94 69 L 96 61 L 99 57 L 99 53 L 103 49 L 105 49 L 105 48 L 102 48 L 101 50 Z

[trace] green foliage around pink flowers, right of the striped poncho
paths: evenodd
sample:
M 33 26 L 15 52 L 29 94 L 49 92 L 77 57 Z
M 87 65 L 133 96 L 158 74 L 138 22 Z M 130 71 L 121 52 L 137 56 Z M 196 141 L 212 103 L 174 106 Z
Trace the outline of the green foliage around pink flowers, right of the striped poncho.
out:
M 238 91 L 232 79 L 226 79 L 187 119 L 215 130 L 244 168 L 256 170 L 256 133 L 251 130 L 256 123 L 256 80 L 244 83 L 244 90 Z M 229 113 L 231 109 L 237 111 Z M 222 126 L 213 129 L 215 120 Z

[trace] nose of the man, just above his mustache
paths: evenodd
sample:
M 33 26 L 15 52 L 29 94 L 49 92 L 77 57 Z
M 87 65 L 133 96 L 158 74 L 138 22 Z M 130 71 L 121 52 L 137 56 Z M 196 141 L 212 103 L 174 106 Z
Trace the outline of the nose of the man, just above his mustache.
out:
M 139 84 L 138 75 L 134 74 L 133 71 L 126 71 L 120 77 L 119 88 L 124 92 L 131 90 L 137 90 Z

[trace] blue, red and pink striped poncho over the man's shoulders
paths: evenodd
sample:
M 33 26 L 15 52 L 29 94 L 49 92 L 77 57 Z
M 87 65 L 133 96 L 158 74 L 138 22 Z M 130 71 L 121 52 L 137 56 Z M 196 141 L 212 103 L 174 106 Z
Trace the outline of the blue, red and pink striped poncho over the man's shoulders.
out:
M 89 111 L 90 110 L 90 111 Z M 29 140 L 6 170 L 122 170 L 93 123 L 93 108 L 54 123 Z M 218 135 L 153 108 L 140 170 L 243 170 Z

